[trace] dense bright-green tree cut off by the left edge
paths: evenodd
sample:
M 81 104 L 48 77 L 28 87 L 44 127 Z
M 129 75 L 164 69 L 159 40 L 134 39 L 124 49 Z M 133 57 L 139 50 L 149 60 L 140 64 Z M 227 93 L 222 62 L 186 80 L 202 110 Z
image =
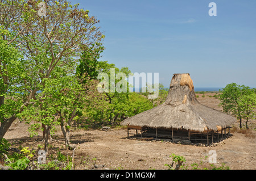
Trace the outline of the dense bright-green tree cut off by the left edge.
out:
M 3 37 L 10 32 L 0 27 L 0 138 L 9 129 L 20 112 L 24 100 L 24 87 L 21 82 L 24 75 L 24 61 L 13 44 Z

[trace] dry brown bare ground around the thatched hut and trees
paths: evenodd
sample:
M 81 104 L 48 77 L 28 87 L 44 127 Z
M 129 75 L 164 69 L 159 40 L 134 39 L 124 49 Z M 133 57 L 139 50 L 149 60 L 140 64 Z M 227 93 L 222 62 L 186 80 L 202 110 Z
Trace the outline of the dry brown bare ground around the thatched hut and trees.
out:
M 209 98 L 202 94 L 197 98 L 206 106 L 218 107 L 218 99 Z M 250 128 L 255 128 L 256 121 L 250 121 Z M 236 124 L 236 127 L 238 123 Z M 37 149 L 39 144 L 43 145 L 42 133 L 39 136 L 30 138 L 27 132 L 28 125 L 24 123 L 14 123 L 7 132 L 5 138 L 13 145 L 29 146 Z M 255 136 L 253 131 L 253 135 Z M 204 159 L 208 156 L 209 150 L 216 150 L 217 166 L 225 163 L 230 169 L 256 169 L 256 139 L 253 136 L 247 137 L 246 134 L 231 132 L 232 137 L 220 142 L 217 146 L 192 146 L 173 144 L 164 141 L 138 141 L 127 139 L 127 131 L 122 128 L 114 128 L 110 131 L 73 129 L 71 133 L 72 144 L 77 145 L 75 151 L 75 169 L 92 169 L 93 158 L 97 159 L 96 165 L 104 165 L 100 169 L 167 169 L 164 164 L 171 163 L 169 155 L 183 155 L 187 160 L 187 165 L 191 163 L 208 162 Z M 50 142 L 51 148 L 47 158 L 51 154 L 56 155 L 57 151 L 72 155 L 72 151 L 66 151 L 63 145 L 64 138 L 60 131 L 57 131 L 55 141 Z M 191 167 L 189 167 L 191 169 Z

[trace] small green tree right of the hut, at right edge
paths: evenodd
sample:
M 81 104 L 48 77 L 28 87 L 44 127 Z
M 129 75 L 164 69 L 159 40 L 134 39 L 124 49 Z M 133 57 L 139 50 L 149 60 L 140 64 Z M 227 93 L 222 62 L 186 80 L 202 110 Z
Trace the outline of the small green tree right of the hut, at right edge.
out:
M 226 85 L 222 94 L 220 94 L 220 106 L 222 106 L 224 112 L 232 113 L 232 115 L 240 120 L 240 129 L 242 129 L 242 119 L 245 117 L 245 110 L 248 110 L 250 107 L 246 106 L 246 104 L 249 103 L 247 96 L 252 92 L 254 92 L 254 90 L 250 89 L 250 87 L 230 83 Z

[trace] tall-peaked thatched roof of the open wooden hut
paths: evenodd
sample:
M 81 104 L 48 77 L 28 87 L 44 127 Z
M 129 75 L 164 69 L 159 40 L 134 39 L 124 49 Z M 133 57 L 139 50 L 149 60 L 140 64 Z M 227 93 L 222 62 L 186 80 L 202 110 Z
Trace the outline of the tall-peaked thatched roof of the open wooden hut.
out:
M 220 131 L 235 122 L 235 117 L 199 103 L 189 74 L 174 74 L 163 104 L 125 119 L 121 124 L 207 132 Z

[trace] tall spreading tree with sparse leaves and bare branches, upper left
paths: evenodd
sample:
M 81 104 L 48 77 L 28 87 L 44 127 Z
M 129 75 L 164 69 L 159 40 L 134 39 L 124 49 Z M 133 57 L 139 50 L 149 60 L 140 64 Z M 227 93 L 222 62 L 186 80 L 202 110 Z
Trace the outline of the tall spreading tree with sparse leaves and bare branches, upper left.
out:
M 44 1 L 46 3 L 46 16 L 39 16 L 38 5 L 43 1 L 1 1 L 0 25 L 3 30 L 10 33 L 1 33 L 7 45 L 13 45 L 24 57 L 19 58 L 23 65 L 23 74 L 18 74 L 20 82 L 9 84 L 16 87 L 19 95 L 15 98 L 4 99 L 1 94 L 1 107 L 15 107 L 16 112 L 6 112 L 2 116 L 0 137 L 3 137 L 11 123 L 24 108 L 43 102 L 45 95 L 40 95 L 49 79 L 58 79 L 75 74 L 79 64 L 77 57 L 88 49 L 101 45 L 104 35 L 96 24 L 99 20 L 89 16 L 88 10 L 79 9 L 79 5 L 60 1 Z M 13 74 L 12 69 L 5 69 L 2 79 L 6 74 Z M 20 76 L 21 75 L 21 76 Z M 17 92 L 17 91 L 16 91 Z M 17 93 L 18 94 L 18 93 Z M 4 95 L 4 96 L 2 96 Z M 22 100 L 16 106 L 14 100 Z M 1 109 L 2 109 L 1 108 Z M 41 107 L 43 111 L 43 107 Z M 9 110 L 10 111 L 10 110 Z M 46 115 L 41 115 L 46 117 Z

